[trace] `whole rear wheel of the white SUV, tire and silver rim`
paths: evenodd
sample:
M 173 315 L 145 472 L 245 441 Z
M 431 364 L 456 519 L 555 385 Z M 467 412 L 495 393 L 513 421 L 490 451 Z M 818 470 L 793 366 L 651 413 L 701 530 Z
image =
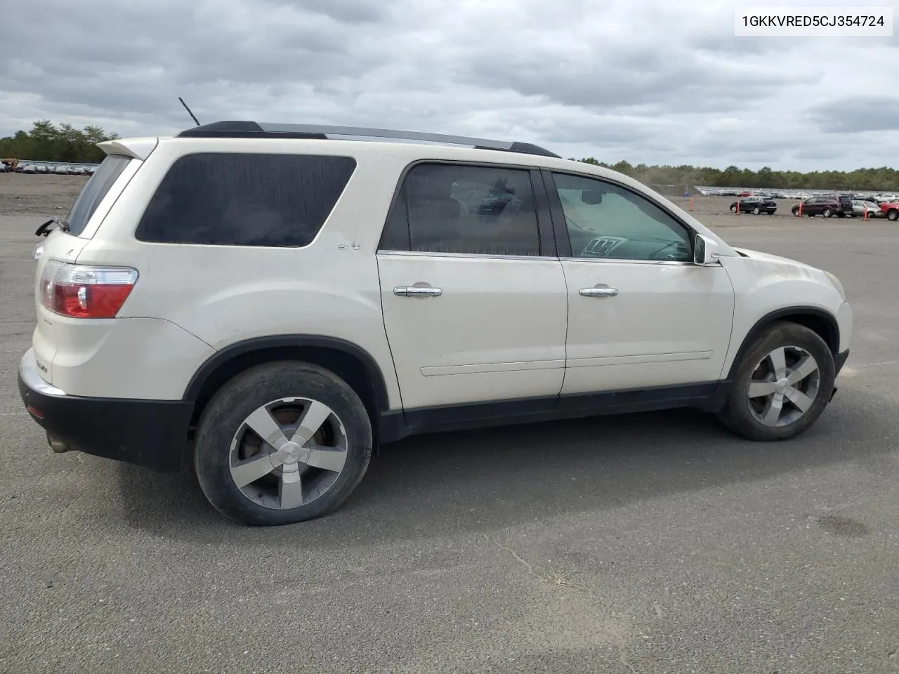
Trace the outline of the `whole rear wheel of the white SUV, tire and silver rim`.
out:
M 281 361 L 247 370 L 213 397 L 194 467 L 227 518 L 290 524 L 336 510 L 365 474 L 371 445 L 368 412 L 343 379 Z

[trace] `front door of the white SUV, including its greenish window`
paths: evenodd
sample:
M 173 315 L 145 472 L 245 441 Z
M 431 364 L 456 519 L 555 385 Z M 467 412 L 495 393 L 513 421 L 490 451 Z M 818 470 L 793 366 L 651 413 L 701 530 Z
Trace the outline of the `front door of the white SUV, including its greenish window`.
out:
M 565 173 L 547 189 L 571 246 L 562 394 L 717 381 L 734 316 L 725 269 L 693 264 L 689 229 L 637 191 Z

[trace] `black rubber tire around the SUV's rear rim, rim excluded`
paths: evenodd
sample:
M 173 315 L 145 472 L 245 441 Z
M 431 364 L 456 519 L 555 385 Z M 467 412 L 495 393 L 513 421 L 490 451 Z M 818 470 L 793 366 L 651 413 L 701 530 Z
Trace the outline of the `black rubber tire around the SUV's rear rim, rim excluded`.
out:
M 229 467 L 230 444 L 251 412 L 288 396 L 324 403 L 340 417 L 347 457 L 343 471 L 321 496 L 296 508 L 276 510 L 250 501 L 236 486 Z M 325 368 L 287 360 L 251 368 L 218 390 L 200 418 L 194 468 L 206 498 L 228 519 L 251 526 L 293 524 L 340 507 L 365 475 L 371 447 L 369 414 L 352 387 Z

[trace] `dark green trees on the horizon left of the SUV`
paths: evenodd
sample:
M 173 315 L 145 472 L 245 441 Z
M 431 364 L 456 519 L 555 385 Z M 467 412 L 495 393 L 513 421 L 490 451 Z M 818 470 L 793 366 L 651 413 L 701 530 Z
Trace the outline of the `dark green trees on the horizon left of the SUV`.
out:
M 99 164 L 105 153 L 96 144 L 118 137 L 93 125 L 76 129 L 71 124 L 55 125 L 40 120 L 34 122 L 30 131 L 17 131 L 13 136 L 0 138 L 0 157 Z

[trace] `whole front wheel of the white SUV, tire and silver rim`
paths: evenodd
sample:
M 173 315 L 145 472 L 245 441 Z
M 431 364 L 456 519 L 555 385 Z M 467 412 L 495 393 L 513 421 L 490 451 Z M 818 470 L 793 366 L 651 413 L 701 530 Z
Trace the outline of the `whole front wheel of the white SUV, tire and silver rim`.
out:
M 718 416 L 746 439 L 795 438 L 821 416 L 835 376 L 831 350 L 817 333 L 775 323 L 737 365 L 733 390 Z

